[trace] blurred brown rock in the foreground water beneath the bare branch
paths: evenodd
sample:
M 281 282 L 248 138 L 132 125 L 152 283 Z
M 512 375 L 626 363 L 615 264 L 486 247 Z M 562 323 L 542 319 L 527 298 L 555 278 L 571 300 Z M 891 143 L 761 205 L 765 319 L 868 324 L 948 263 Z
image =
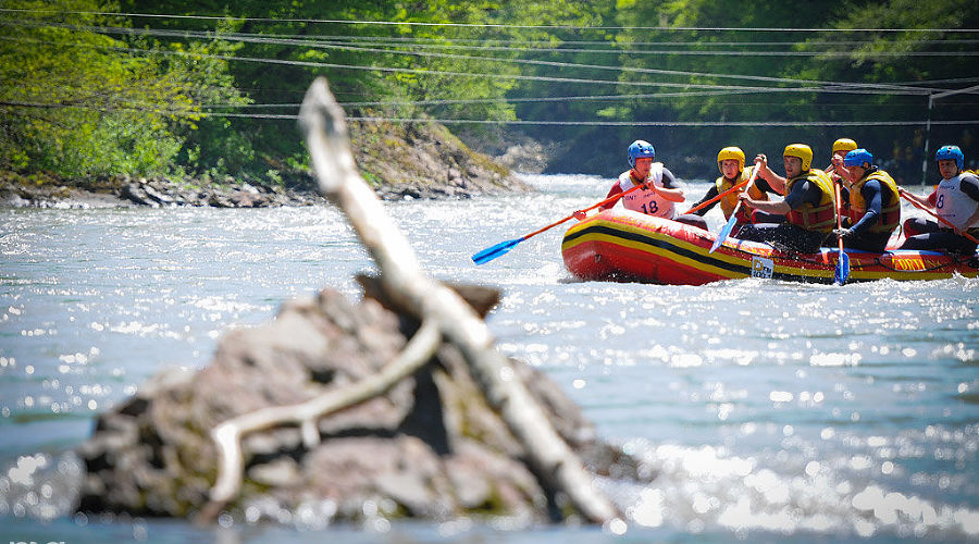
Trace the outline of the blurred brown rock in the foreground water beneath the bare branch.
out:
M 495 292 L 469 292 L 483 312 L 496 301 Z M 417 326 L 374 298 L 352 305 L 324 290 L 315 300 L 286 304 L 272 323 L 230 333 L 205 369 L 162 374 L 99 418 L 79 448 L 87 470 L 79 510 L 194 516 L 214 484 L 218 452 L 209 432 L 215 425 L 376 372 Z M 515 367 L 592 472 L 635 478 L 637 465 L 599 442 L 553 382 Z M 321 442 L 311 448 L 297 428 L 246 436 L 244 485 L 225 510 L 249 521 L 313 516 L 326 523 L 375 516 L 561 517 L 560 497 L 524 463 L 520 443 L 450 345 L 386 395 L 327 416 L 318 428 Z

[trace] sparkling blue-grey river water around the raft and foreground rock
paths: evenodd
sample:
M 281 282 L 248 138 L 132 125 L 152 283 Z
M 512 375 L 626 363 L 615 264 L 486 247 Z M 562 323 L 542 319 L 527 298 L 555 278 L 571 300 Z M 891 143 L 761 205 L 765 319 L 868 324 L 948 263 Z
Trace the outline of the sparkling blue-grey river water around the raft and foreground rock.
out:
M 0 542 L 979 539 L 979 280 L 578 282 L 562 227 L 473 265 L 609 183 L 526 178 L 540 193 L 386 208 L 434 276 L 503 289 L 488 320 L 500 350 L 661 471 L 649 487 L 602 482 L 633 518 L 624 535 L 64 515 L 77 465 L 63 452 L 97 413 L 162 368 L 202 367 L 223 334 L 284 300 L 326 286 L 358 297 L 351 276 L 373 267 L 330 208 L 0 209 Z

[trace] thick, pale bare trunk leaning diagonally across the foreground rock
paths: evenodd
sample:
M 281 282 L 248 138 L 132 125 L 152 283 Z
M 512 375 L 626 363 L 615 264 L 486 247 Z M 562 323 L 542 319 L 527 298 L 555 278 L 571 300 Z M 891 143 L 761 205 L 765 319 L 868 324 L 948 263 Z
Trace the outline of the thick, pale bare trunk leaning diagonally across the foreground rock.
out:
M 408 239 L 357 172 L 344 112 L 326 79 L 318 78 L 310 86 L 299 118 L 320 191 L 347 215 L 377 263 L 386 295 L 421 322 L 437 326 L 441 335 L 460 349 L 490 405 L 525 448 L 538 478 L 566 494 L 587 520 L 607 523 L 616 519 L 615 507 L 593 487 L 592 474 L 555 431 L 507 358 L 496 350 L 486 324 L 462 298 L 421 269 Z

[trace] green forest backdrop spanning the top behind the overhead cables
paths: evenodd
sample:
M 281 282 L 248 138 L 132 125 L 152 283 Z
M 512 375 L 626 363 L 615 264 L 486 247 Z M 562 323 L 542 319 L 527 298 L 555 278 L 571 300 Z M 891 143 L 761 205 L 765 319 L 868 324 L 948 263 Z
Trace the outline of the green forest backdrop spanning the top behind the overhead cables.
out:
M 2 0 L 0 28 L 0 169 L 24 173 L 301 171 L 320 75 L 357 122 L 543 143 L 548 172 L 615 175 L 637 138 L 701 180 L 729 145 L 825 166 L 851 137 L 903 183 L 937 181 L 926 141 L 979 158 L 974 0 Z

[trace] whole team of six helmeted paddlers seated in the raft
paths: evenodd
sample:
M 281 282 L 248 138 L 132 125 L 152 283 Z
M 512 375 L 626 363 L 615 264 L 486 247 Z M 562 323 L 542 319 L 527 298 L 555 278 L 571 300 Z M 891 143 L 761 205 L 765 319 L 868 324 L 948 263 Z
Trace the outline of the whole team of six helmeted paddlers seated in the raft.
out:
M 678 213 L 677 206 L 684 201 L 684 196 L 677 178 L 661 162 L 653 162 L 656 152 L 649 143 L 636 140 L 628 150 L 630 170 L 619 175 L 607 198 L 622 196 L 600 210 L 621 200 L 629 210 L 706 231 L 703 215 L 720 203 L 724 219 L 735 217 L 731 235 L 739 239 L 769 243 L 779 249 L 804 254 L 816 252 L 822 245 L 835 246 L 842 239 L 846 248 L 882 252 L 901 224 L 901 197 L 904 197 L 938 221 L 905 221 L 905 242 L 900 249 L 976 251 L 979 177 L 963 170 L 965 157 L 957 146 L 942 146 L 935 152 L 942 180 L 927 198 L 899 187 L 890 174 L 873 164 L 870 151 L 857 147 L 850 138 L 838 139 L 832 151 L 830 165 L 819 170 L 811 168 L 809 146 L 786 146 L 782 153 L 785 170 L 782 177 L 769 168 L 765 154 L 759 153 L 755 165 L 745 169 L 744 151 L 726 147 L 717 153 L 721 175 L 714 186 L 690 210 Z M 631 190 L 637 186 L 641 186 L 639 190 Z M 769 195 L 784 198 L 771 199 Z M 575 212 L 574 217 L 581 220 L 585 214 Z

